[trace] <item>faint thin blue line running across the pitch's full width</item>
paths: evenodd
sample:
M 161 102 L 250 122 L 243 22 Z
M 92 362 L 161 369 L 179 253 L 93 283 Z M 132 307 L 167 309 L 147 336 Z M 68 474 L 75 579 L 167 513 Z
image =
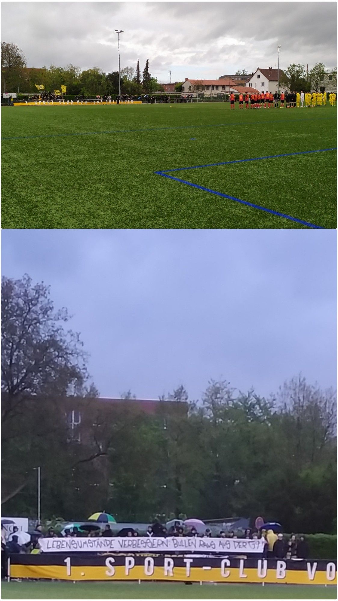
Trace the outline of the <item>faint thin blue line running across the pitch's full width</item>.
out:
M 278 123 L 290 123 L 291 121 L 335 121 L 334 117 L 319 117 L 319 118 L 297 118 L 290 119 L 289 121 L 281 121 Z M 251 122 L 250 125 L 256 125 L 260 123 L 275 123 L 275 121 L 263 120 L 263 121 L 255 121 Z M 247 125 L 245 121 L 241 123 L 217 123 L 214 125 L 179 125 L 172 127 L 135 127 L 135 129 L 110 129 L 102 132 L 73 132 L 73 133 L 46 133 L 37 136 L 8 136 L 7 138 L 1 138 L 2 140 L 24 140 L 24 139 L 32 139 L 32 138 L 59 138 L 66 136 L 94 136 L 100 135 L 102 133 L 130 133 L 130 132 L 158 132 L 162 130 L 176 130 L 176 129 L 195 129 L 197 127 L 237 127 L 238 125 Z

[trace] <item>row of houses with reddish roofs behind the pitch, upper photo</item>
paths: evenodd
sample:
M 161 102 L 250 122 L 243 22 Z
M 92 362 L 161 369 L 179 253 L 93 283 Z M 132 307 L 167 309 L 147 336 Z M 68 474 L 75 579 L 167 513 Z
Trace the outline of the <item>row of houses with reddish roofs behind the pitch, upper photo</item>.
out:
M 204 95 L 217 95 L 217 94 L 229 94 L 242 93 L 242 94 L 253 94 L 256 92 L 274 93 L 279 88 L 280 92 L 285 92 L 287 87 L 280 84 L 281 81 L 286 79 L 285 73 L 280 69 L 278 77 L 278 69 L 260 69 L 258 67 L 254 73 L 248 75 L 221 75 L 219 79 L 189 79 L 185 78 L 182 84 L 182 94 L 204 94 Z M 278 86 L 279 80 L 279 86 Z M 321 76 L 320 91 L 325 90 L 330 93 L 336 91 L 337 84 L 333 73 L 325 73 Z M 164 91 L 174 92 L 175 84 L 162 84 Z

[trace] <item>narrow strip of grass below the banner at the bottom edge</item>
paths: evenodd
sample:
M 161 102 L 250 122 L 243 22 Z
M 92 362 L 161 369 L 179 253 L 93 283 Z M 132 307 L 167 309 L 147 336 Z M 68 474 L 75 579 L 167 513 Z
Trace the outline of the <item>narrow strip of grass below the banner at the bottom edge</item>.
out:
M 4 582 L 2 599 L 336 599 L 337 587 L 180 582 Z

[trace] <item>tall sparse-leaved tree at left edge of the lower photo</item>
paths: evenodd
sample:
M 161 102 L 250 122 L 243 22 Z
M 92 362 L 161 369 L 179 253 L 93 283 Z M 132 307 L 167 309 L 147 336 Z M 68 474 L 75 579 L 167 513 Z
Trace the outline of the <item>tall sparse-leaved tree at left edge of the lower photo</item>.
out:
M 29 489 L 34 466 L 48 466 L 55 480 L 57 473 L 64 477 L 72 463 L 64 455 L 67 427 L 58 401 L 97 394 L 88 389 L 79 334 L 64 329 L 70 316 L 54 310 L 49 294 L 28 275 L 2 278 L 2 502 Z

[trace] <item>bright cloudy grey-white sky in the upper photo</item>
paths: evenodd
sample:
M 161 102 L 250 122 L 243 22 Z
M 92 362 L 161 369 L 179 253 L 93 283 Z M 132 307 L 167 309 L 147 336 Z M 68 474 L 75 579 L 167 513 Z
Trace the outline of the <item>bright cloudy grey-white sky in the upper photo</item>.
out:
M 28 67 L 149 70 L 162 83 L 218 79 L 245 68 L 337 65 L 336 2 L 2 2 L 3 41 Z

